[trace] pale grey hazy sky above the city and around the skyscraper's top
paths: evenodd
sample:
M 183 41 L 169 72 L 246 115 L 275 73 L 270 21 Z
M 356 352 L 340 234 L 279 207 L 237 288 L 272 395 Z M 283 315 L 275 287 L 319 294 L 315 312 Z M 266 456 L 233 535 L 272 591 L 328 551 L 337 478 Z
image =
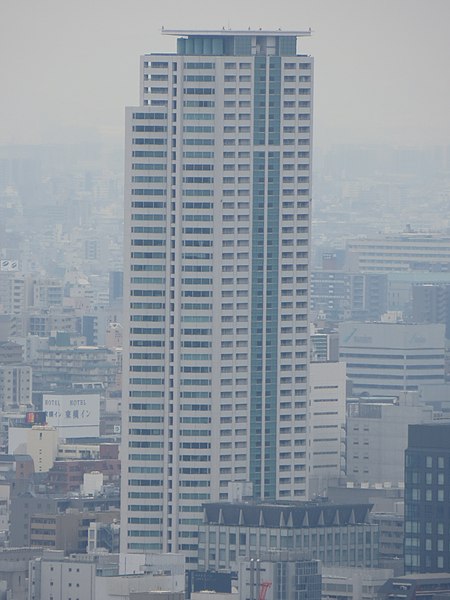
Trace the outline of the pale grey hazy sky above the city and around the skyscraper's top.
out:
M 170 28 L 313 29 L 319 144 L 450 142 L 450 0 L 0 0 L 0 144 L 120 141 Z

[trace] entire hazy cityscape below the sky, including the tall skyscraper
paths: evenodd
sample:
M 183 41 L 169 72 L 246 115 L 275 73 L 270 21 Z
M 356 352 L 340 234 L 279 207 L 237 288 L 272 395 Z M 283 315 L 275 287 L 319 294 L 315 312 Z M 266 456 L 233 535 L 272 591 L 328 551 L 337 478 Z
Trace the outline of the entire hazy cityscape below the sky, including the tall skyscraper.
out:
M 162 34 L 125 166 L 0 146 L 0 600 L 450 598 L 450 145 L 313 151 L 310 29 Z

